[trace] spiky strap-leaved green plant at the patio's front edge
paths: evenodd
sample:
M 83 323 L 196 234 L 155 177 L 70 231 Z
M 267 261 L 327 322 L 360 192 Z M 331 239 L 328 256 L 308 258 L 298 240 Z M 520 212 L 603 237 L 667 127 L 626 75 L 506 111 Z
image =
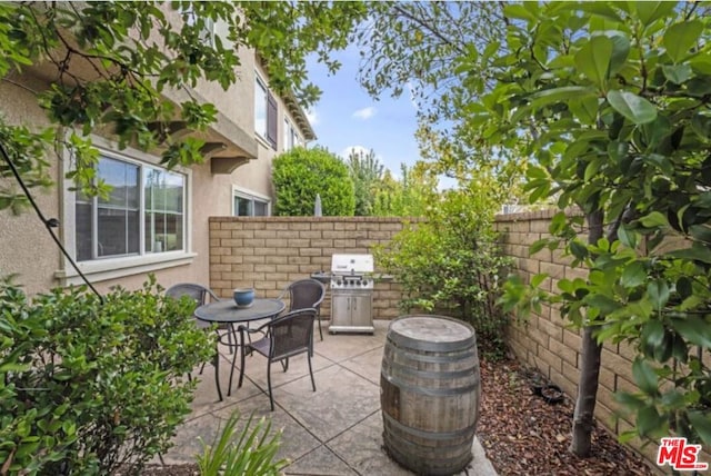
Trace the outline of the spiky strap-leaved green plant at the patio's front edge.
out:
M 244 428 L 237 433 L 239 413 L 230 415 L 222 432 L 212 445 L 202 444 L 198 456 L 201 476 L 270 476 L 278 475 L 289 462 L 277 458 L 281 444 L 281 430 L 270 435 L 271 422 L 262 418 L 252 427 L 252 416 Z

